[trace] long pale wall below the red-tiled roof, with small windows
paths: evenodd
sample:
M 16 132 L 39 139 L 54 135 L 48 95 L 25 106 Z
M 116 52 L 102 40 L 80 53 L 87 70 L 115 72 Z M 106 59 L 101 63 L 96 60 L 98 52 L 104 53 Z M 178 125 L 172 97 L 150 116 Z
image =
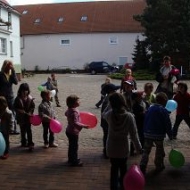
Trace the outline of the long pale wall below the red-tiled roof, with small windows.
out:
M 40 70 L 53 68 L 83 69 L 85 63 L 106 61 L 119 63 L 119 57 L 127 57 L 132 63 L 135 40 L 139 33 L 93 33 L 28 35 L 22 37 L 22 68 Z M 117 44 L 110 44 L 110 38 Z M 69 45 L 61 45 L 61 40 L 70 40 Z

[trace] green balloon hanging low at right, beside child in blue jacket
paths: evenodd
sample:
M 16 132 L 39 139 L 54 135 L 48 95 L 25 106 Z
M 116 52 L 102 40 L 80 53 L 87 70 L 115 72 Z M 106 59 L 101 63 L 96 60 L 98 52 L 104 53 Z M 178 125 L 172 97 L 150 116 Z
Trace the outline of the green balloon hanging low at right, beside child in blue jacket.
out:
M 180 168 L 185 164 L 185 158 L 181 152 L 172 149 L 169 153 L 169 162 L 173 167 Z

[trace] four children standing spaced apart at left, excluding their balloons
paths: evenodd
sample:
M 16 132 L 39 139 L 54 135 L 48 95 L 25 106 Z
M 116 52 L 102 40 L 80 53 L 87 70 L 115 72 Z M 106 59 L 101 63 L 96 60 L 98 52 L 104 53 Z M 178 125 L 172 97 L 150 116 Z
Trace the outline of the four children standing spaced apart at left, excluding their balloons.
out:
M 38 105 L 38 114 L 42 119 L 44 148 L 58 147 L 54 141 L 54 133 L 50 130 L 50 121 L 55 119 L 55 111 L 51 102 L 51 91 L 41 91 L 42 101 Z M 77 107 L 80 105 L 79 97 L 70 95 L 66 99 L 68 106 L 65 116 L 68 120 L 66 136 L 69 141 L 68 164 L 70 166 L 82 166 L 83 163 L 78 158 L 78 136 L 82 128 L 88 128 L 88 125 L 80 123 L 80 116 Z M 16 120 L 20 126 L 21 147 L 28 147 L 30 151 L 34 149 L 32 139 L 32 130 L 30 117 L 35 109 L 34 98 L 30 95 L 28 83 L 22 83 L 19 86 L 17 96 L 14 100 L 14 110 Z M 8 109 L 8 104 L 3 96 L 0 96 L 0 132 L 6 142 L 6 149 L 1 159 L 7 159 L 9 156 L 9 131 L 12 129 L 14 115 Z

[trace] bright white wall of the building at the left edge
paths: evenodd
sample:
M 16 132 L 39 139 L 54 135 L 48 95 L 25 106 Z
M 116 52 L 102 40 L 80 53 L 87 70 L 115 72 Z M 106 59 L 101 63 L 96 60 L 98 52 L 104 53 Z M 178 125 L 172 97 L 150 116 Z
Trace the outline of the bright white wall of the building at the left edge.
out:
M 8 10 L 1 8 L 1 18 L 8 21 Z M 5 38 L 7 41 L 7 53 L 0 54 L 0 68 L 5 59 L 12 60 L 17 73 L 21 72 L 21 57 L 20 57 L 20 17 L 18 14 L 11 12 L 11 27 L 0 26 L 0 38 Z M 13 49 L 11 50 L 11 42 Z M 11 53 L 12 51 L 12 53 Z

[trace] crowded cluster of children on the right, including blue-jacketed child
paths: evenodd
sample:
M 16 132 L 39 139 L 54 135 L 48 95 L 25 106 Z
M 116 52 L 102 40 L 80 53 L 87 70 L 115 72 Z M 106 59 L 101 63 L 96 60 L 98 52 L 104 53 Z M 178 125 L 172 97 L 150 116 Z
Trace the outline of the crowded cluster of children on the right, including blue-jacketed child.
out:
M 132 74 L 130 69 L 127 69 L 126 73 Z M 160 172 L 165 168 L 166 134 L 170 140 L 176 139 L 182 120 L 190 128 L 190 94 L 186 83 L 178 82 L 177 91 L 173 95 L 178 104 L 173 127 L 170 112 L 165 108 L 168 96 L 164 92 L 154 94 L 152 83 L 146 83 L 144 90 L 138 91 L 135 79 L 132 76 L 125 76 L 120 93 L 116 92 L 118 88 L 109 83 L 101 89 L 106 95 L 102 104 L 100 125 L 103 129 L 103 154 L 111 162 L 111 190 L 117 190 L 118 183 L 121 189 L 123 188 L 122 181 L 128 155 L 134 155 L 135 150 L 136 153 L 142 154 L 139 165 L 145 174 L 149 154 L 155 146 L 155 171 Z

